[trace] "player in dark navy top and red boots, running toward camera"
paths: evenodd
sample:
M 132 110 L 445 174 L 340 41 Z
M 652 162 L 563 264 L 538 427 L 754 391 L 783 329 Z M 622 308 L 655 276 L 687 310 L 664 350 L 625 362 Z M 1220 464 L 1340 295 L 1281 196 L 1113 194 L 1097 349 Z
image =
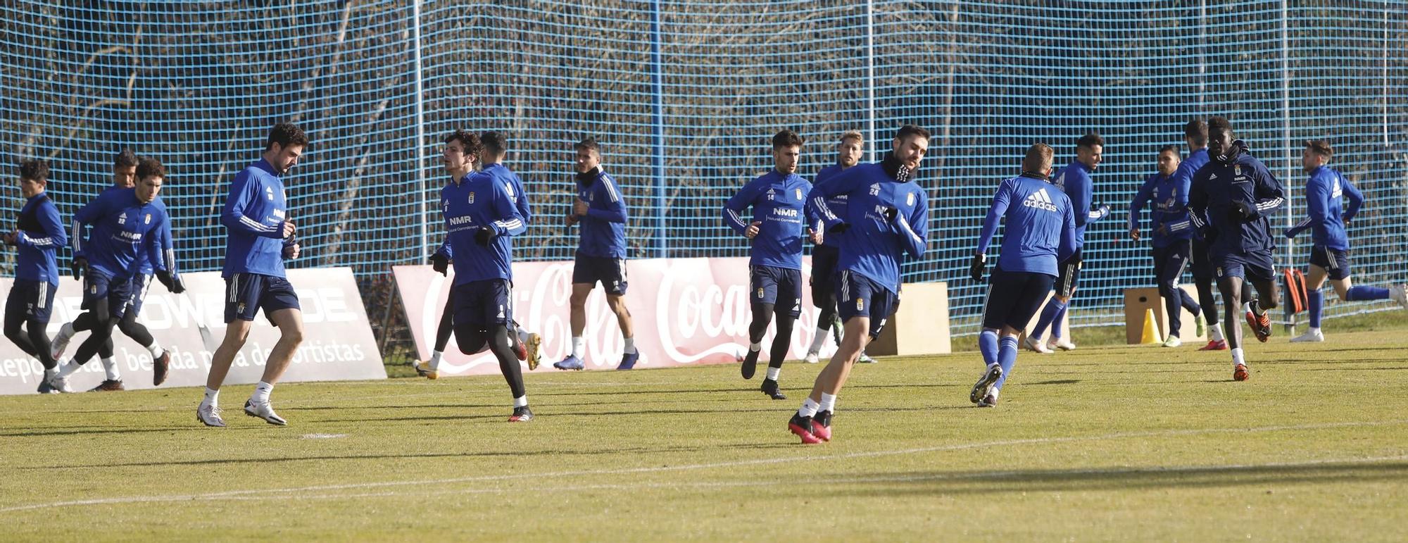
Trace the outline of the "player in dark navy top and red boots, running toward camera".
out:
M 1232 378 L 1250 377 L 1242 354 L 1242 325 L 1236 311 L 1242 307 L 1245 281 L 1256 287 L 1260 300 L 1246 300 L 1246 321 L 1264 342 L 1271 336 L 1271 319 L 1266 309 L 1278 304 L 1276 266 L 1271 252 L 1271 224 L 1267 215 L 1276 212 L 1286 197 L 1281 181 L 1252 156 L 1240 139 L 1235 139 L 1232 124 L 1222 117 L 1208 120 L 1207 166 L 1193 174 L 1188 190 L 1188 218 L 1208 239 L 1208 256 L 1218 276 L 1218 290 L 1225 305 L 1222 326 L 1232 347 Z

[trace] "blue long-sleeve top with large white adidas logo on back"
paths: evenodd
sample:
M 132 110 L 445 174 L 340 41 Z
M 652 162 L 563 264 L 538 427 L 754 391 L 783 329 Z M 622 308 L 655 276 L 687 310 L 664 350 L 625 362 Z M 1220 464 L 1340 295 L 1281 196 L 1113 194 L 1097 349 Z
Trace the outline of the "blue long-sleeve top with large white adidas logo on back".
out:
M 1004 272 L 1056 276 L 1056 264 L 1076 252 L 1076 212 L 1066 193 L 1045 180 L 1002 180 L 983 219 L 977 252 L 987 253 L 998 222 L 1005 222 L 997 266 Z

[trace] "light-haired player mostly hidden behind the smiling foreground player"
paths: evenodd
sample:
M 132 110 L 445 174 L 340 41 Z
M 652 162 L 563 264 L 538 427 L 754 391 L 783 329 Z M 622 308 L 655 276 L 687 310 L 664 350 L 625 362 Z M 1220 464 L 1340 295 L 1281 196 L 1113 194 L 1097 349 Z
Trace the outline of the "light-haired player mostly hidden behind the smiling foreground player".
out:
M 841 142 L 836 143 L 836 163 L 822 167 L 817 173 L 817 181 L 814 184 L 821 184 L 821 181 L 845 172 L 850 166 L 860 163 L 860 155 L 865 153 L 866 139 L 860 135 L 860 131 L 846 131 L 841 135 Z M 836 196 L 826 200 L 831 212 L 836 217 L 843 217 L 846 214 L 846 200 L 845 196 Z M 811 336 L 811 346 L 807 347 L 807 356 L 803 362 L 808 364 L 815 364 L 821 356 L 821 346 L 826 343 L 828 335 L 836 336 L 836 345 L 841 345 L 841 321 L 836 318 L 836 260 L 841 259 L 841 234 L 832 236 L 818 236 L 817 232 L 822 232 L 824 225 L 817 215 L 815 205 L 811 201 L 807 203 L 805 211 L 807 219 L 811 222 L 808 225 L 808 235 L 812 238 L 812 243 L 821 239 L 821 243 L 815 243 L 811 249 L 811 304 L 821 309 L 817 315 L 817 332 Z M 874 363 L 876 360 L 860 352 L 859 363 Z

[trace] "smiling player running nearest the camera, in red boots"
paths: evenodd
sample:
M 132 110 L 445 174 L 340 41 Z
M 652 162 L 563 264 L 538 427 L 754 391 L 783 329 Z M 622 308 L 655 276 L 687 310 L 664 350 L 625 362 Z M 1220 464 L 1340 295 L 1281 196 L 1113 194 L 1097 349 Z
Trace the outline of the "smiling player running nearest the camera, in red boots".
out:
M 914 181 L 929 148 L 929 132 L 904 125 L 884 160 L 860 165 L 812 189 L 807 200 L 822 212 L 824 235 L 841 238 L 836 302 L 843 335 L 836 354 L 817 374 L 811 395 L 787 421 L 803 443 L 831 440 L 836 395 L 866 343 L 880 335 L 900 302 L 900 262 L 919 257 L 928 246 L 929 197 Z M 846 196 L 846 215 L 831 212 L 826 198 Z

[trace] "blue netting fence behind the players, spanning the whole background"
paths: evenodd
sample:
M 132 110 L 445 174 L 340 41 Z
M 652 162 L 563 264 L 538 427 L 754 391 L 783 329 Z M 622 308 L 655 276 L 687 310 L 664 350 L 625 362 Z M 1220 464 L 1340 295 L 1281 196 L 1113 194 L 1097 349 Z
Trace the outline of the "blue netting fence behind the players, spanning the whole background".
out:
M 910 281 L 949 281 L 953 333 L 976 332 L 963 279 L 991 191 L 1035 141 L 1073 159 L 1105 136 L 1071 319 L 1119 324 L 1121 291 L 1152 286 L 1122 217 L 1155 153 L 1194 117 L 1226 115 L 1298 200 L 1302 142 L 1326 138 L 1366 194 L 1354 280 L 1405 270 L 1408 8 L 1397 1 L 505 1 L 137 3 L 0 0 L 0 148 L 51 160 L 70 214 L 108 183 L 120 146 L 162 159 L 186 269 L 221 264 L 217 210 L 266 129 L 313 145 L 289 179 L 304 257 L 352 266 L 396 335 L 391 264 L 442 232 L 439 141 L 510 136 L 510 166 L 543 217 L 520 259 L 570 259 L 559 226 L 572 143 L 593 135 L 631 205 L 634 257 L 743 256 L 718 207 L 770 167 L 769 136 L 808 138 L 801 172 L 841 132 L 867 153 L 905 122 L 935 134 L 922 183 L 931 245 Z M 13 179 L 13 169 L 6 179 Z M 3 190 L 18 207 L 18 190 Z M 1278 263 L 1304 266 L 1284 243 Z M 8 256 L 7 256 L 8 257 Z M 1388 308 L 1331 304 L 1328 317 Z M 397 338 L 391 338 L 397 339 Z

